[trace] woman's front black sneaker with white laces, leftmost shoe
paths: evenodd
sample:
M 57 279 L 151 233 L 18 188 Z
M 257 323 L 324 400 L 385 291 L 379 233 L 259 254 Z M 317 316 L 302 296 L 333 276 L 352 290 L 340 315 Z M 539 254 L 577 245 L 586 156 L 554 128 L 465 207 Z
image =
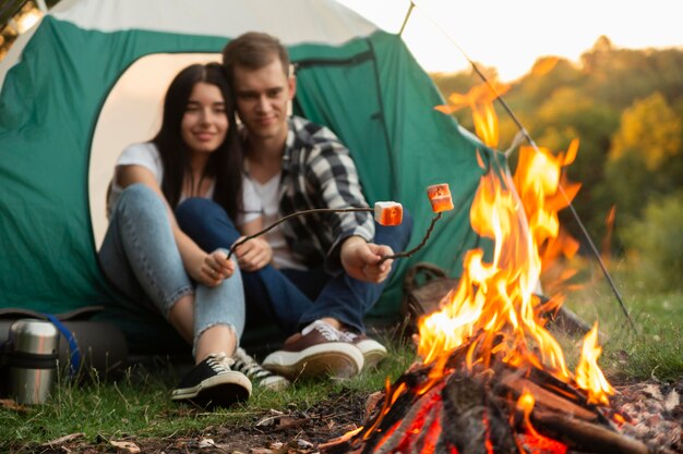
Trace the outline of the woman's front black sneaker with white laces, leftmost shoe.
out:
M 204 408 L 227 407 L 247 401 L 251 395 L 251 382 L 242 372 L 230 369 L 232 363 L 225 353 L 212 353 L 180 380 L 171 400 L 191 402 Z

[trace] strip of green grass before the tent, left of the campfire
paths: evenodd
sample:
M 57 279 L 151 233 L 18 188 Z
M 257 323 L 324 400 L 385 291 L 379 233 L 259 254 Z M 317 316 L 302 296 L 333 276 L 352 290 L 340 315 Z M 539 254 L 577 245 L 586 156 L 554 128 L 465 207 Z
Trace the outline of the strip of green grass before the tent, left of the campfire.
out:
M 208 426 L 251 422 L 271 408 L 286 410 L 296 405 L 297 409 L 307 410 L 334 393 L 380 391 L 387 377 L 397 379 L 412 359 L 410 347 L 393 345 L 390 359 L 361 377 L 344 382 L 299 381 L 277 393 L 254 389 L 249 403 L 216 412 L 170 401 L 170 390 L 180 377 L 170 364 L 153 372 L 135 367 L 117 381 L 104 382 L 93 377 L 89 383 L 77 385 L 60 380 L 46 404 L 21 410 L 0 408 L 0 452 L 10 447 L 14 452 L 33 452 L 38 444 L 79 432 L 92 443 L 127 435 L 183 437 Z

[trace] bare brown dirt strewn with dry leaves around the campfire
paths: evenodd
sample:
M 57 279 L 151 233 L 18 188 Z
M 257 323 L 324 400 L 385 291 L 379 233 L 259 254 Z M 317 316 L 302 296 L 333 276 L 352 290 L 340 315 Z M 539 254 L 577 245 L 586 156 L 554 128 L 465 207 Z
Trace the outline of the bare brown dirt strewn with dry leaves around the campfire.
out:
M 612 407 L 631 422 L 623 427 L 624 433 L 648 443 L 652 454 L 683 452 L 683 380 L 674 384 L 647 381 L 615 388 L 618 394 L 612 398 Z M 310 454 L 319 452 L 320 443 L 361 426 L 373 401 L 376 402 L 376 395 L 343 392 L 305 412 L 292 404 L 286 412 L 255 415 L 248 425 L 206 427 L 191 437 L 86 441 L 73 434 L 52 441 L 51 445 L 14 446 L 13 452 Z

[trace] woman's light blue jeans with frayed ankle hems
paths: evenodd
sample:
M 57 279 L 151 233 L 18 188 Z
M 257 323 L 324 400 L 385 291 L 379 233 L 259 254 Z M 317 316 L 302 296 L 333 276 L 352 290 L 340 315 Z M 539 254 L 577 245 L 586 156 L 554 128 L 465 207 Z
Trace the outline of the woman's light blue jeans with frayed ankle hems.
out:
M 238 340 L 242 335 L 245 309 L 240 271 L 236 267 L 235 274 L 215 287 L 195 285 L 182 263 L 166 205 L 147 186 L 133 184 L 121 194 L 99 249 L 99 261 L 109 281 L 128 299 L 153 308 L 166 319 L 181 297 L 194 294 L 194 344 L 216 324 L 231 327 Z

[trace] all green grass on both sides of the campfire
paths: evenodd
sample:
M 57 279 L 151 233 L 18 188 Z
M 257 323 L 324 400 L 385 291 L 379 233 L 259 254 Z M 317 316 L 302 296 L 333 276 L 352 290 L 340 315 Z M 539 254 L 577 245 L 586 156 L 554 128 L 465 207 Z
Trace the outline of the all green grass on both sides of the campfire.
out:
M 567 306 L 606 334 L 600 366 L 612 382 L 683 379 L 683 290 L 650 294 L 623 277 L 618 282 L 638 334 L 630 329 L 611 290 L 603 283 L 571 295 Z M 576 364 L 580 342 L 558 335 L 570 366 Z M 61 380 L 45 405 L 22 410 L 0 408 L 0 452 L 33 452 L 38 444 L 62 435 L 83 432 L 85 440 L 171 438 L 196 434 L 209 426 L 251 424 L 269 408 L 296 405 L 305 410 L 338 392 L 369 394 L 395 380 L 412 363 L 414 349 L 405 343 L 391 344 L 390 359 L 381 367 L 346 382 L 297 382 L 279 393 L 255 391 L 248 404 L 229 410 L 197 412 L 175 405 L 168 398 L 179 371 L 170 364 L 158 370 L 129 369 L 117 381 L 93 377 L 76 385 Z M 22 447 L 23 446 L 23 447 Z

